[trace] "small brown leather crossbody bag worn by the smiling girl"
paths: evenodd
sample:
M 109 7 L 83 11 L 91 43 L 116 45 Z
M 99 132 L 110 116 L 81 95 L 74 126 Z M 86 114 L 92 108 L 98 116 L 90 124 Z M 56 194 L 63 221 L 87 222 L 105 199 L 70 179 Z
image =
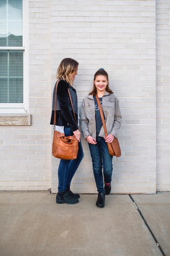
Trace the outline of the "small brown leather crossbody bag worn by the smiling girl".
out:
M 101 116 L 101 121 L 103 123 L 105 135 L 107 137 L 108 133 L 107 133 L 107 129 L 106 129 L 105 118 L 104 118 L 104 115 L 103 115 L 103 110 L 101 108 L 100 100 L 99 100 L 97 95 L 96 95 L 96 100 L 97 100 L 97 103 L 98 103 L 98 107 L 99 107 L 99 111 L 100 111 L 100 116 Z M 116 157 L 120 157 L 121 156 L 120 144 L 119 144 L 118 139 L 116 137 L 114 138 L 114 140 L 111 143 L 107 142 L 107 147 L 108 147 L 109 154 L 111 156 L 116 156 Z

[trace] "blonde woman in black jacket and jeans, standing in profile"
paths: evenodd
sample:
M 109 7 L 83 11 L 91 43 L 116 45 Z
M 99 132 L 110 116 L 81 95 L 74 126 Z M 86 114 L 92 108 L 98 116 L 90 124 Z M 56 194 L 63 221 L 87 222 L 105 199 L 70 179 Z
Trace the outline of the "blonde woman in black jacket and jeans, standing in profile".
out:
M 73 194 L 70 190 L 71 180 L 77 171 L 78 166 L 83 158 L 83 149 L 80 141 L 80 131 L 78 129 L 78 99 L 77 93 L 73 88 L 73 81 L 78 74 L 79 63 L 73 59 L 65 58 L 61 61 L 57 69 L 57 106 L 56 106 L 56 126 L 55 130 L 64 133 L 65 136 L 75 135 L 79 140 L 78 156 L 73 160 L 61 159 L 58 167 L 58 193 L 56 196 L 57 204 L 77 204 L 79 202 L 79 194 Z M 57 83 L 56 83 L 57 84 Z M 54 124 L 54 108 L 56 84 L 53 92 L 53 109 L 50 124 Z M 71 95 L 74 113 L 69 98 Z M 77 119 L 77 122 L 75 121 Z

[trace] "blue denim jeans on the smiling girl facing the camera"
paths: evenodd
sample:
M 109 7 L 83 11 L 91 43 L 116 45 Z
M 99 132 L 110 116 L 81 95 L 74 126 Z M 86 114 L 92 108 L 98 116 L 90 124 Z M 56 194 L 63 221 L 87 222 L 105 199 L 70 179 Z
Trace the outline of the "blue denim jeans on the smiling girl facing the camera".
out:
M 96 141 L 97 144 L 95 145 L 89 143 L 92 167 L 94 170 L 97 191 L 100 193 L 105 193 L 104 182 L 110 183 L 112 181 L 113 156 L 109 154 L 107 143 L 103 137 L 97 136 Z

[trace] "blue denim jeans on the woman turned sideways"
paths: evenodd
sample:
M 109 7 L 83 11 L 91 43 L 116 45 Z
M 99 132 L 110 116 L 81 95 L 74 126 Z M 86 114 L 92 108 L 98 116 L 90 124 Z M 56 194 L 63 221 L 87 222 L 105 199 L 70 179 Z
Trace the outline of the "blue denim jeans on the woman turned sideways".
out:
M 73 132 L 69 127 L 64 127 L 64 134 L 65 136 L 71 136 L 73 135 Z M 66 187 L 70 187 L 74 173 L 77 171 L 83 156 L 84 154 L 80 141 L 76 159 L 60 160 L 60 165 L 58 166 L 58 192 L 63 192 L 66 190 Z

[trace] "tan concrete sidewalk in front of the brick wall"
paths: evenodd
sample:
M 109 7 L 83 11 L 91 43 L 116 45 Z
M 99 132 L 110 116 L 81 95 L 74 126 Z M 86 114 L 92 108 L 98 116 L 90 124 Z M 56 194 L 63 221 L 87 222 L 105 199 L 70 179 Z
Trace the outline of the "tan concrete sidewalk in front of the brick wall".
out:
M 97 195 L 58 205 L 48 191 L 1 191 L 0 255 L 168 256 L 169 196 L 109 195 L 100 209 Z

